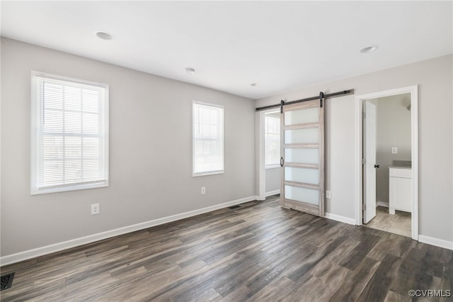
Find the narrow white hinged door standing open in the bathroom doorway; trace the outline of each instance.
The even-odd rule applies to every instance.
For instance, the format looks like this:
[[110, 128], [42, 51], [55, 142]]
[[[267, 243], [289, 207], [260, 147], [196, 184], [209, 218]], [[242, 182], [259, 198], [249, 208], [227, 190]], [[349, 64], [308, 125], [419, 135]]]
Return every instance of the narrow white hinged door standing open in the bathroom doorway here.
[[376, 216], [376, 101], [365, 101], [363, 118], [363, 223], [369, 223]]

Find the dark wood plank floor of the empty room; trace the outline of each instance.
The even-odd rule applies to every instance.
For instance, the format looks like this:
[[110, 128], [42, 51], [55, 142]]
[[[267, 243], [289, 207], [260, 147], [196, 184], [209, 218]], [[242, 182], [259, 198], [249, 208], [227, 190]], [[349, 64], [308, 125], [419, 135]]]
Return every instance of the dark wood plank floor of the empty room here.
[[7, 272], [16, 275], [1, 301], [410, 301], [410, 289], [453, 290], [453, 251], [282, 209], [274, 197]]

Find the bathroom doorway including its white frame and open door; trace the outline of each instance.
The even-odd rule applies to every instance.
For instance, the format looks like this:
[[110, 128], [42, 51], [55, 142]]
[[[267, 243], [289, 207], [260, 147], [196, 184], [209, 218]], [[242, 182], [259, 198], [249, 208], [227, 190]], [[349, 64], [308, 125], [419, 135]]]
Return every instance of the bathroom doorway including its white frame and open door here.
[[418, 240], [418, 86], [355, 97], [356, 224]]

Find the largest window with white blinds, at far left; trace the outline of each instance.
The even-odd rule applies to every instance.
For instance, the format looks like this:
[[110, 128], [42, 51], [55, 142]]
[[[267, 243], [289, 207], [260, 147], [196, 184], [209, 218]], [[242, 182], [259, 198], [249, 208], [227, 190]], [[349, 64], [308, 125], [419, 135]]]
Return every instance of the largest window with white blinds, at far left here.
[[31, 194], [108, 186], [108, 85], [32, 72]]

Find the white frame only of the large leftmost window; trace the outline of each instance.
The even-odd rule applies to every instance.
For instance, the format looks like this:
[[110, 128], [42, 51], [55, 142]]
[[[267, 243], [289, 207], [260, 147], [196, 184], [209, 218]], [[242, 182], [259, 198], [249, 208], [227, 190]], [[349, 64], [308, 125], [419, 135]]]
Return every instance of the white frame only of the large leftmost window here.
[[[37, 109], [38, 109], [38, 99], [35, 91], [35, 81], [37, 78], [50, 79], [52, 81], [68, 82], [70, 84], [76, 85], [87, 85], [98, 88], [103, 94], [103, 108], [104, 108], [104, 123], [103, 123], [103, 139], [105, 150], [103, 152], [103, 158], [105, 164], [105, 180], [102, 181], [93, 181], [86, 183], [76, 183], [76, 184], [66, 184], [62, 186], [49, 186], [46, 189], [39, 189], [38, 187], [38, 120], [37, 120]], [[79, 191], [84, 189], [96, 189], [109, 186], [109, 169], [110, 169], [110, 159], [109, 159], [109, 85], [86, 81], [83, 79], [75, 79], [72, 77], [65, 77], [58, 74], [50, 74], [47, 72], [40, 72], [36, 70], [31, 71], [30, 77], [30, 195], [40, 195], [40, 194], [51, 194], [64, 191]], [[39, 104], [42, 106], [42, 104]], [[102, 113], [100, 112], [99, 115]]]

